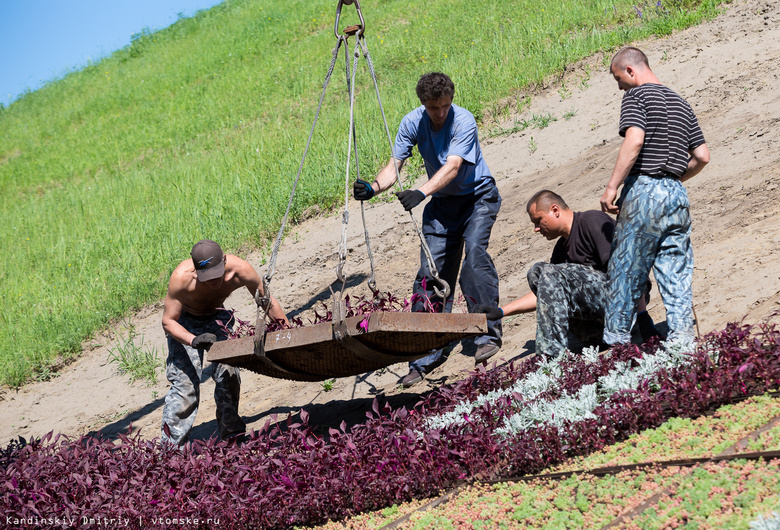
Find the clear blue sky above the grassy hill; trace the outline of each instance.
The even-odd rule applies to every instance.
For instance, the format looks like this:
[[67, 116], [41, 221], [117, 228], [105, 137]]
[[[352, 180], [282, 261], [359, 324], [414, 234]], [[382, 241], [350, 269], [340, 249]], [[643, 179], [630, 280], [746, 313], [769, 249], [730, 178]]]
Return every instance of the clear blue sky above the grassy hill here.
[[0, 103], [221, 0], [0, 0]]

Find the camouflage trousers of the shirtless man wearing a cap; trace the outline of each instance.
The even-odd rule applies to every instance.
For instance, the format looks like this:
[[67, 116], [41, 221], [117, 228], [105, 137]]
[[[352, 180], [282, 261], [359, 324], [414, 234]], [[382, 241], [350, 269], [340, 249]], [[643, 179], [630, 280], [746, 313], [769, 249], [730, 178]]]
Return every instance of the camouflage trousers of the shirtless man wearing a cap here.
[[[217, 340], [227, 340], [227, 334], [217, 323], [231, 322], [230, 313], [218, 311], [209, 317], [182, 314], [179, 324], [190, 333], [213, 333]], [[165, 396], [161, 439], [182, 445], [189, 437], [200, 403], [200, 383], [203, 375], [203, 352], [192, 346], [185, 346], [168, 337], [168, 360], [165, 375], [171, 389]], [[217, 431], [221, 438], [227, 438], [246, 431], [246, 424], [238, 415], [238, 400], [241, 392], [241, 376], [238, 368], [213, 363], [211, 378], [214, 380], [214, 401], [217, 404]], [[165, 425], [170, 428], [170, 437], [165, 434]]]

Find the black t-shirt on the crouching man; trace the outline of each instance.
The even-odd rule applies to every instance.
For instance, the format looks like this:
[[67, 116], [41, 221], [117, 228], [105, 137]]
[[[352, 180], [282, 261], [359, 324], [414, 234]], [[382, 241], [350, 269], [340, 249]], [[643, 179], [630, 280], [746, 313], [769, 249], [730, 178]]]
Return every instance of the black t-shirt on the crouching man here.
[[607, 272], [615, 220], [598, 210], [574, 212], [569, 238], [559, 238], [550, 263], [580, 263]]

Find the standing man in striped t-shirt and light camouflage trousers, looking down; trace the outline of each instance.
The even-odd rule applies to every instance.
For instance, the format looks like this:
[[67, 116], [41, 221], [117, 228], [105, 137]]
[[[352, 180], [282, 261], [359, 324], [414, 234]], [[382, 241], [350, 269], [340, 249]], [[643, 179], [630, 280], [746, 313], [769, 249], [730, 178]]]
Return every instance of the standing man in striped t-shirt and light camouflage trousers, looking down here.
[[620, 50], [610, 71], [626, 93], [619, 129], [624, 140], [601, 196], [602, 211], [618, 214], [604, 342], [631, 341], [637, 303], [651, 268], [666, 308], [668, 338], [692, 340], [691, 218], [682, 182], [702, 170], [710, 152], [690, 105], [661, 85], [641, 50]]

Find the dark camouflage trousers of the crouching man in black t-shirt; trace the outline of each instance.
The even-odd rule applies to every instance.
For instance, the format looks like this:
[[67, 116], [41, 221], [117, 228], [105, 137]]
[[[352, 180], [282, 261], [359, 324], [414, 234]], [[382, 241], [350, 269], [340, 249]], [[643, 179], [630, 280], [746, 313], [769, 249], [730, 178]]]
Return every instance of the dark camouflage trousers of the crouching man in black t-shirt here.
[[607, 275], [578, 263], [536, 263], [528, 271], [536, 295], [536, 352], [557, 357], [571, 333], [598, 344], [604, 328]]

